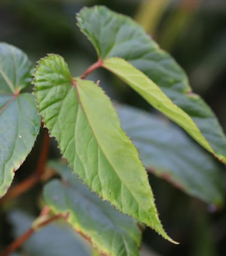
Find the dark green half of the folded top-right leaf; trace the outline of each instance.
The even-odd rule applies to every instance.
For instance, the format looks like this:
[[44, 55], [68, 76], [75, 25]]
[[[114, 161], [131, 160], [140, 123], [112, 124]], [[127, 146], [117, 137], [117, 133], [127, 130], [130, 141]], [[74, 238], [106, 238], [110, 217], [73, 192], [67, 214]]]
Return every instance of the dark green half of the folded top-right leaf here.
[[226, 138], [212, 110], [202, 98], [191, 92], [185, 72], [168, 53], [159, 49], [143, 28], [130, 18], [104, 6], [83, 8], [77, 20], [81, 31], [93, 43], [99, 59], [120, 57], [143, 72], [190, 116], [206, 141], [200, 135], [197, 136], [194, 124], [191, 127], [196, 132], [189, 131], [192, 128], [186, 131], [226, 163]]

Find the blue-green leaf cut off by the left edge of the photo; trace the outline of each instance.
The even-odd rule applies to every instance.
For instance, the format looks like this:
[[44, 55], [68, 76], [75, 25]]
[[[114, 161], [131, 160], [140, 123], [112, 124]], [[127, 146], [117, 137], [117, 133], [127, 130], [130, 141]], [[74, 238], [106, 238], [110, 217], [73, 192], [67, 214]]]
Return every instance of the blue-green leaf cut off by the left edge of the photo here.
[[0, 197], [34, 145], [40, 127], [35, 97], [20, 93], [30, 81], [27, 55], [0, 43]]

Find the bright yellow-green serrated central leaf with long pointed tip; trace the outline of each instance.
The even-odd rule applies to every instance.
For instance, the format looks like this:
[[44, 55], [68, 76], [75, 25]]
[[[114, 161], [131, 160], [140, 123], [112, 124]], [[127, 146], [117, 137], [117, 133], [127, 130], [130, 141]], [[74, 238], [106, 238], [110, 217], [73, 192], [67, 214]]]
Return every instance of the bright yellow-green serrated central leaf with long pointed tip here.
[[34, 72], [45, 126], [79, 177], [121, 212], [166, 239], [138, 151], [123, 132], [110, 99], [91, 81], [74, 81], [64, 59], [51, 54]]

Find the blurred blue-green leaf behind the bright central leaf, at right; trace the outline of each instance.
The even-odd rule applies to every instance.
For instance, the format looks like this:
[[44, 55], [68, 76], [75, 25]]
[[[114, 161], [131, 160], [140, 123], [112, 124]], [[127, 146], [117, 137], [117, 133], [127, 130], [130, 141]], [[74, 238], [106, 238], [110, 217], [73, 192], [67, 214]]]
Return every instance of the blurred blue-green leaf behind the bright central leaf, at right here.
[[124, 105], [117, 109], [123, 130], [148, 170], [191, 196], [223, 204], [223, 168], [216, 159], [169, 121]]

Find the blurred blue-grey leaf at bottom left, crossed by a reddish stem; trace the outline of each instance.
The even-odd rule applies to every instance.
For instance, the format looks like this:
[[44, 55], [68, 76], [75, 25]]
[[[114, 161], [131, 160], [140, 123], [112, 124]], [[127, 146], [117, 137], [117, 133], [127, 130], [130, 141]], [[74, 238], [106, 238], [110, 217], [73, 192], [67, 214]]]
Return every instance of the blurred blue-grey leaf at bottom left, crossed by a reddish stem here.
[[[31, 227], [35, 218], [15, 210], [9, 213], [9, 220], [13, 226], [13, 236], [18, 238]], [[37, 230], [22, 245], [23, 252], [32, 256], [91, 256], [90, 247], [85, 239], [62, 221]]]

